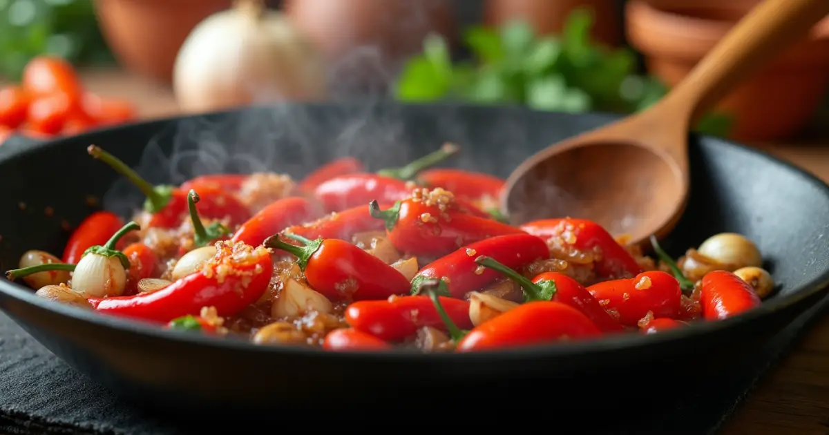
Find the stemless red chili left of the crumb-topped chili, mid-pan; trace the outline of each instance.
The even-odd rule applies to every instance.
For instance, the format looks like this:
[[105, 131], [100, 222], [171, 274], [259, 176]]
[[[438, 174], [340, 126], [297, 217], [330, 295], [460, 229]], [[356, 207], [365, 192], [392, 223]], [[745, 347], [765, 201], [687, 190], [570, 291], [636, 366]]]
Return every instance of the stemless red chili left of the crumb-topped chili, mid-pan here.
[[[388, 205], [387, 205], [388, 206]], [[351, 241], [354, 234], [380, 231], [385, 228], [382, 220], [371, 216], [369, 207], [356, 207], [332, 213], [308, 224], [293, 225], [284, 233], [301, 235], [306, 239], [341, 239]]]

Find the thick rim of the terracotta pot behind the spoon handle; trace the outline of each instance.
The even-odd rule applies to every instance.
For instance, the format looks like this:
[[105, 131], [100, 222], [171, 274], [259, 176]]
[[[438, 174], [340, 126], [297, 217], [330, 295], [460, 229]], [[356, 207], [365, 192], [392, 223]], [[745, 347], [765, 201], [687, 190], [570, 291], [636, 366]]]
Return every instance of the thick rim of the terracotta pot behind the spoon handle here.
[[[675, 5], [676, 0], [629, 1], [625, 21], [631, 44], [647, 55], [699, 60], [734, 25], [728, 20], [694, 17], [666, 10]], [[729, 0], [698, 0], [693, 5], [684, 2], [681, 7], [720, 7], [734, 11], [744, 8], [740, 2]], [[822, 53], [817, 54], [816, 51]], [[829, 65], [829, 17], [812, 27], [807, 41], [794, 46], [784, 59], [776, 63]]]

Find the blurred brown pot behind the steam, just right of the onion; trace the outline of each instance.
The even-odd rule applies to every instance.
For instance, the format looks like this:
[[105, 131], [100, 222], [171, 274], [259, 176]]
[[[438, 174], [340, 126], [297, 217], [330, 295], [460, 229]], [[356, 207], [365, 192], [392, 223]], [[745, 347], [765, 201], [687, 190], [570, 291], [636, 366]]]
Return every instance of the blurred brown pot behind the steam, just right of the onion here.
[[429, 33], [455, 40], [452, 0], [286, 0], [284, 10], [338, 80], [388, 84]]

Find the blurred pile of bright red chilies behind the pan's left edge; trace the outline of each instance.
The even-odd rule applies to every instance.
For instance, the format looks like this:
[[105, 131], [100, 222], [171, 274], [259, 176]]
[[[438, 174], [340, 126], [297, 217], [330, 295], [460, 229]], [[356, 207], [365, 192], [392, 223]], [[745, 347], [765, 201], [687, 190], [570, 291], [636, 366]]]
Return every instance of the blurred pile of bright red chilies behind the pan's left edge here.
[[0, 144], [15, 133], [70, 136], [133, 118], [133, 104], [85, 91], [72, 65], [56, 57], [32, 59], [20, 84], [0, 89]]

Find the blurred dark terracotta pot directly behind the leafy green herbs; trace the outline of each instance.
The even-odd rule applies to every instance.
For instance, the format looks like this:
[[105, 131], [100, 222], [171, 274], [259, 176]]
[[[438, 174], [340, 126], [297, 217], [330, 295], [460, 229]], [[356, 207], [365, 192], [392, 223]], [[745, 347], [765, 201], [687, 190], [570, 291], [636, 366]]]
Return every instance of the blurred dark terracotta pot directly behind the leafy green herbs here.
[[560, 33], [567, 16], [574, 8], [593, 11], [592, 36], [608, 46], [618, 46], [622, 30], [616, 0], [487, 0], [484, 21], [500, 26], [513, 19], [529, 22], [540, 34]]

